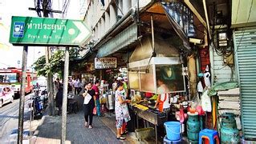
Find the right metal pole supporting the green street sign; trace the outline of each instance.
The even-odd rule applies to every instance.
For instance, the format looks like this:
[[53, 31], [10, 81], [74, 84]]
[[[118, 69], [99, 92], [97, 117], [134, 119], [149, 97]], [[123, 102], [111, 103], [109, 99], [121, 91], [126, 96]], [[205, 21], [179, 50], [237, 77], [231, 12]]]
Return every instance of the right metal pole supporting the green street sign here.
[[61, 143], [66, 141], [66, 128], [67, 128], [67, 81], [68, 81], [68, 67], [69, 67], [69, 46], [65, 50], [65, 65], [64, 65], [64, 78], [63, 78], [63, 110], [62, 110], [62, 131]]

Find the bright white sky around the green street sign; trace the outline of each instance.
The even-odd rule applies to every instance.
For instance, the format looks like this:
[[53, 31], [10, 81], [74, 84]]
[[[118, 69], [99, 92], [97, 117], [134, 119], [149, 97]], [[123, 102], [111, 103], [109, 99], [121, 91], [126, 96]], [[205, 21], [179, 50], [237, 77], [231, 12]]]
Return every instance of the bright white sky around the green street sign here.
[[[53, 10], [62, 10], [63, 0], [54, 0], [52, 2]], [[11, 16], [38, 17], [36, 12], [28, 10], [29, 7], [35, 7], [34, 0], [0, 0], [0, 68], [22, 67], [22, 46], [12, 46], [9, 43]], [[67, 9], [67, 17], [70, 19], [79, 19], [79, 0], [70, 0]], [[61, 14], [54, 14], [54, 18]], [[30, 66], [42, 55], [45, 54], [45, 47], [29, 46], [27, 54], [27, 66]], [[18, 64], [19, 62], [19, 64]]]

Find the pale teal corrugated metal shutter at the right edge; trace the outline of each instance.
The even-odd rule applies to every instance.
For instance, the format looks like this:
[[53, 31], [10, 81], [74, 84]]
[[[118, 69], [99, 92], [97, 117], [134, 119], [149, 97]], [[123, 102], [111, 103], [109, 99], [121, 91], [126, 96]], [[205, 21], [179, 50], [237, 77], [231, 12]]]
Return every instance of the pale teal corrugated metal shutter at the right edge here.
[[256, 138], [256, 28], [234, 31], [234, 53], [241, 89], [242, 130]]

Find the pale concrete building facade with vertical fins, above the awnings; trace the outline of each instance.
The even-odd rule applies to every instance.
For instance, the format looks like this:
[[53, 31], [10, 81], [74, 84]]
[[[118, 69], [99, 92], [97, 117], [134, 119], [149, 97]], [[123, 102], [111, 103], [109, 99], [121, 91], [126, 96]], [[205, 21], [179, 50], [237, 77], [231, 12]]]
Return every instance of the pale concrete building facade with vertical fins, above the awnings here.
[[[133, 7], [137, 7], [138, 0], [104, 0], [105, 6], [98, 0], [85, 2], [87, 6], [84, 22], [93, 31], [91, 39], [98, 40], [112, 28], [118, 19], [128, 13]], [[147, 6], [152, 0], [139, 0], [140, 8]], [[84, 10], [84, 9], [83, 9]]]

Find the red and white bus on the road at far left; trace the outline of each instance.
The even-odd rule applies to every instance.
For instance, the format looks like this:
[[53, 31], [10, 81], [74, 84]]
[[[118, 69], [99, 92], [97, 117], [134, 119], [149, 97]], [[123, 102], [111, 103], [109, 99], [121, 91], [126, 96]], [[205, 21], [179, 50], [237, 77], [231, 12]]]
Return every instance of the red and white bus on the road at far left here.
[[[32, 80], [33, 77], [33, 80]], [[33, 91], [33, 81], [36, 80], [36, 74], [26, 70], [25, 80], [25, 93], [31, 93]], [[15, 67], [8, 67], [7, 69], [0, 69], [0, 85], [10, 85], [14, 90], [14, 97], [20, 97], [22, 83], [22, 69]]]

